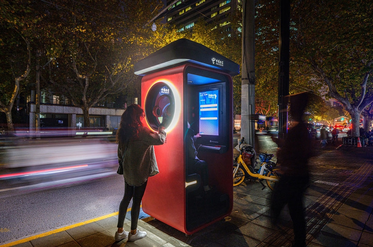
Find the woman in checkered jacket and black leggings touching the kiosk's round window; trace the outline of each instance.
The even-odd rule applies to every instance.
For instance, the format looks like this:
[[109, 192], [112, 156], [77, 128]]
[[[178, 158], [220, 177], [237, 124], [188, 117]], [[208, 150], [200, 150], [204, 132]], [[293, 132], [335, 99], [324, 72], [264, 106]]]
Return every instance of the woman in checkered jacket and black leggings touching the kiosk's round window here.
[[[164, 144], [166, 132], [162, 125], [159, 126], [158, 132], [142, 126], [141, 119], [144, 117], [144, 110], [139, 105], [128, 106], [122, 114], [116, 135], [119, 164], [123, 157], [122, 166], [125, 189], [123, 199], [119, 205], [118, 230], [115, 232], [115, 241], [120, 241], [127, 237], [128, 241], [135, 241], [146, 237], [145, 231], [137, 230], [140, 205], [148, 177], [159, 173], [153, 145]], [[126, 232], [123, 230], [123, 224], [132, 198], [131, 231]]]

